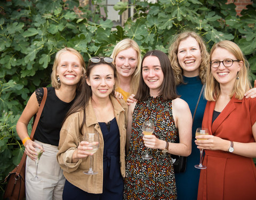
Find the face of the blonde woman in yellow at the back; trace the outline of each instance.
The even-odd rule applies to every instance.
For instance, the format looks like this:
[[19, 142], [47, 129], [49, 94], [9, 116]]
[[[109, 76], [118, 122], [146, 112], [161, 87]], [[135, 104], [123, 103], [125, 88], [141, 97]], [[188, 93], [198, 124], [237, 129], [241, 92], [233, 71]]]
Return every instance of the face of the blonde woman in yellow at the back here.
[[132, 48], [120, 51], [115, 58], [115, 65], [119, 77], [131, 77], [137, 67], [137, 52]]

